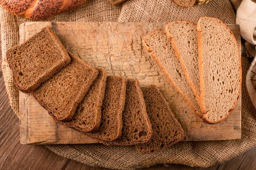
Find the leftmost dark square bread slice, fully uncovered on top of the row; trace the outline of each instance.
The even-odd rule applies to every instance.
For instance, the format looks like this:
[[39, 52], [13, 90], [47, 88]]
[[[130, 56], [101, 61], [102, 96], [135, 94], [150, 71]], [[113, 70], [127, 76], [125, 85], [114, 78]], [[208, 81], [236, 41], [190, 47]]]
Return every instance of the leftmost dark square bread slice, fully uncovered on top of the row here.
[[23, 93], [34, 91], [70, 63], [70, 57], [49, 27], [44, 27], [20, 45], [6, 53], [13, 82]]

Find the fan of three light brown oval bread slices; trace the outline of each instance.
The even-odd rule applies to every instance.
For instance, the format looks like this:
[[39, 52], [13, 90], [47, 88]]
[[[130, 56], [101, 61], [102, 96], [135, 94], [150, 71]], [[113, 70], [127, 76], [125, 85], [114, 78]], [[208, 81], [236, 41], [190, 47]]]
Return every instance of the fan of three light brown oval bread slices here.
[[217, 18], [166, 24], [143, 37], [143, 45], [195, 113], [209, 124], [225, 120], [240, 97], [238, 44]]

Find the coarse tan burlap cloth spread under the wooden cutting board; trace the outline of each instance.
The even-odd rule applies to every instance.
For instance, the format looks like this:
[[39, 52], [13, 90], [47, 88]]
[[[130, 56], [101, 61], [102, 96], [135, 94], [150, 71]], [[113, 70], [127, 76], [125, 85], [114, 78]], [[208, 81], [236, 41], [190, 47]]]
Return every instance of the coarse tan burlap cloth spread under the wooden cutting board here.
[[[112, 6], [109, 0], [88, 0], [83, 6], [69, 13], [56, 15], [50, 21], [121, 21], [121, 22], [170, 22], [190, 20], [197, 22], [200, 16], [213, 16], [226, 23], [235, 23], [235, 13], [229, 0], [214, 0], [208, 4], [188, 9], [177, 7], [171, 0], [129, 0]], [[18, 91], [13, 86], [11, 71], [5, 53], [18, 44], [18, 27], [28, 21], [7, 13], [0, 8], [2, 39], [2, 71], [11, 106], [19, 115]], [[156, 164], [185, 164], [208, 167], [221, 163], [256, 145], [256, 110], [252, 106], [245, 87], [245, 74], [249, 67], [242, 57], [242, 138], [227, 141], [179, 142], [170, 148], [150, 155], [139, 155], [133, 146], [103, 146], [101, 144], [48, 145], [53, 152], [64, 157], [115, 169], [135, 169]]]

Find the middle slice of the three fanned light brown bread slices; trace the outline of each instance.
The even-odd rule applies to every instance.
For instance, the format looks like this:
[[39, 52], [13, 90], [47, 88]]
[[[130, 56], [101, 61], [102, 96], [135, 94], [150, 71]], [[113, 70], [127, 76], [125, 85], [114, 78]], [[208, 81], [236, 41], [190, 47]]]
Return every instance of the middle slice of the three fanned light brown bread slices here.
[[165, 32], [171, 40], [186, 79], [199, 101], [198, 32], [196, 24], [189, 21], [170, 22], [166, 24]]

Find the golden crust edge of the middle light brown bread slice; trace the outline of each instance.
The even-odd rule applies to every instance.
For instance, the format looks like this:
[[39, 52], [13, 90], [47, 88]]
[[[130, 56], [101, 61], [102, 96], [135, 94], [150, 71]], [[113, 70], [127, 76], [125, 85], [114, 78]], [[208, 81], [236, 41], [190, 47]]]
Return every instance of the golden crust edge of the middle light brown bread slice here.
[[175, 41], [173, 40], [173, 35], [171, 35], [171, 33], [168, 31], [168, 26], [170, 26], [171, 24], [178, 23], [178, 22], [189, 22], [190, 24], [192, 24], [192, 25], [194, 25], [194, 26], [196, 26], [196, 24], [193, 23], [193, 22], [190, 22], [190, 21], [178, 20], [178, 21], [174, 21], [174, 22], [167, 23], [166, 26], [164, 27], [164, 31], [165, 31], [167, 37], [171, 40], [171, 44], [172, 44], [172, 46], [173, 46], [173, 49], [174, 49], [174, 51], [175, 51], [175, 54], [177, 55], [177, 58], [178, 58], [179, 61], [180, 61], [181, 68], [182, 68], [182, 70], [184, 71], [184, 74], [185, 74], [185, 76], [186, 76], [186, 79], [187, 79], [189, 85], [191, 86], [192, 91], [194, 92], [197, 101], [199, 102], [199, 100], [200, 100], [200, 95], [198, 94], [197, 90], [195, 89], [195, 86], [194, 86], [194, 84], [192, 83], [192, 81], [191, 81], [191, 79], [190, 79], [190, 77], [189, 77], [189, 74], [188, 74], [188, 72], [187, 72], [187, 70], [186, 70], [186, 67], [184, 66], [184, 63], [183, 63], [183, 61], [182, 61], [182, 57], [180, 56], [180, 52], [179, 52], [179, 50], [177, 49], [177, 46], [176, 46]]

